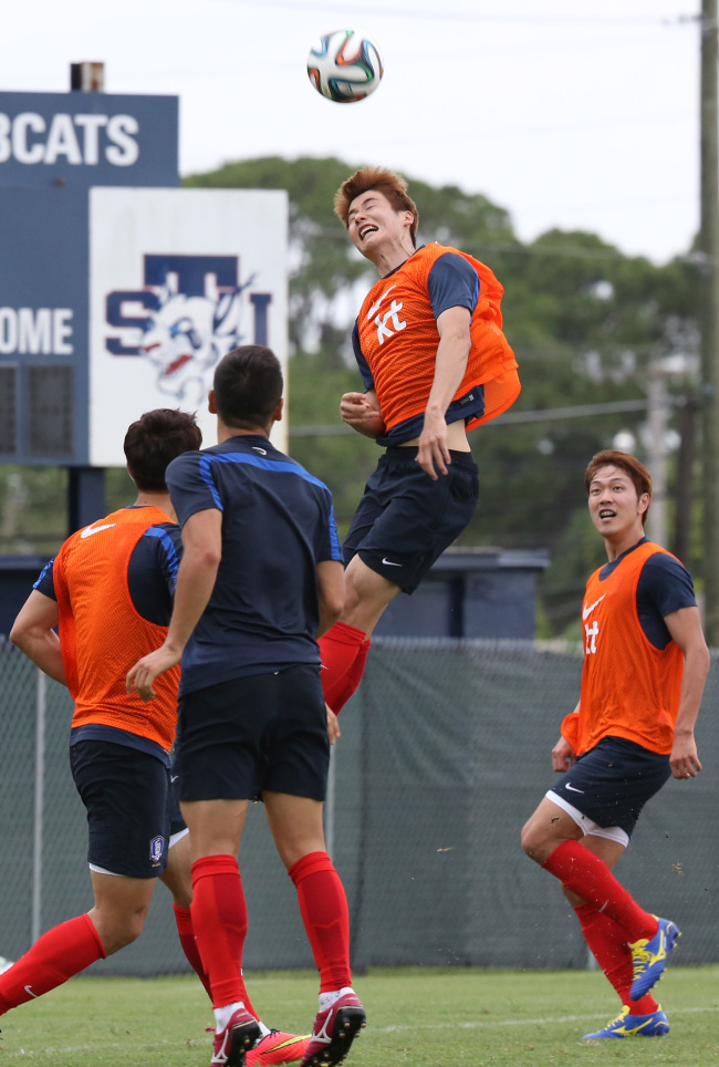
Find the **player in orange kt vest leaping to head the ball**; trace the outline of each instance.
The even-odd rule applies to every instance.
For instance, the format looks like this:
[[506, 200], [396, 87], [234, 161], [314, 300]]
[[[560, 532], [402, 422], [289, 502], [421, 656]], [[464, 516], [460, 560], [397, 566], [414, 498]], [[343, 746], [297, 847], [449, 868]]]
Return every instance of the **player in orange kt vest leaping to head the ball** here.
[[386, 448], [344, 542], [344, 610], [320, 641], [325, 700], [338, 712], [387, 604], [414, 592], [475, 514], [467, 432], [506, 411], [520, 383], [501, 329], [501, 284], [456, 248], [416, 247], [418, 213], [403, 178], [357, 170], [335, 213], [381, 276], [353, 331], [365, 391], [345, 393], [340, 411]]

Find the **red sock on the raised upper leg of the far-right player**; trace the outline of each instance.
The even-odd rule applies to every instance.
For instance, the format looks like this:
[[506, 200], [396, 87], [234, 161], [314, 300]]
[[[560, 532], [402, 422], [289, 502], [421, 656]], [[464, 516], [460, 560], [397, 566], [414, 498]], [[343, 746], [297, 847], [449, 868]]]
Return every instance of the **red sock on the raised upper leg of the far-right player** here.
[[625, 941], [654, 937], [658, 929], [654, 915], [639, 908], [606, 863], [580, 841], [563, 841], [542, 867], [585, 903], [614, 919]]

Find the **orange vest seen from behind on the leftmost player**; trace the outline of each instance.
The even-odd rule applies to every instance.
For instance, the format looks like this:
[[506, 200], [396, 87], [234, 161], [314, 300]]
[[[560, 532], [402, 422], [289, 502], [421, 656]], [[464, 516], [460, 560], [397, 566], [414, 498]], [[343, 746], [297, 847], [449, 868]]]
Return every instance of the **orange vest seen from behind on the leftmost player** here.
[[115, 726], [166, 752], [175, 739], [179, 665], [157, 678], [157, 697], [148, 704], [127, 695], [125, 675], [167, 634], [167, 628], [135, 610], [127, 567], [143, 534], [169, 521], [159, 508], [123, 508], [73, 534], [53, 562], [60, 648], [75, 702], [73, 727]]

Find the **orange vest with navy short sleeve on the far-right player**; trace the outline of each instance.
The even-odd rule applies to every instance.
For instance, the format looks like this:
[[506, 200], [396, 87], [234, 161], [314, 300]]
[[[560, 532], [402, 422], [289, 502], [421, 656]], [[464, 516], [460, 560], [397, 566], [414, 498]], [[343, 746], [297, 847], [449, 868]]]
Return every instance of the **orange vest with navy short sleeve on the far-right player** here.
[[671, 752], [684, 655], [664, 619], [696, 603], [688, 571], [646, 538], [591, 576], [580, 711], [567, 716], [577, 754], [606, 736]]

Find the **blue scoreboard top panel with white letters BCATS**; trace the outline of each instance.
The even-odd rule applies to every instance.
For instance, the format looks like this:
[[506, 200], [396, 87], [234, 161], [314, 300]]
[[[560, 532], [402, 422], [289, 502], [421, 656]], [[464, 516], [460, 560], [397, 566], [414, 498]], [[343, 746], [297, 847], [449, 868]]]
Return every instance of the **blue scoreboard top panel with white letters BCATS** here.
[[177, 186], [178, 97], [0, 93], [0, 186]]

